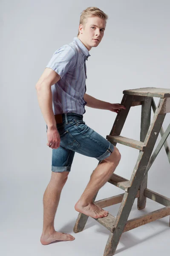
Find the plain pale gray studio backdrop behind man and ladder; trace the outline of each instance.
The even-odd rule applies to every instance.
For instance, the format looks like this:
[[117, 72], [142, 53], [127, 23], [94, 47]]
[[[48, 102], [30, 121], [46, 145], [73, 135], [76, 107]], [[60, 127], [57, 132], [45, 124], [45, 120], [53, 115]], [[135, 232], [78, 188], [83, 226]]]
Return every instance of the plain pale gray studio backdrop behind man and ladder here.
[[[90, 218], [89, 228], [75, 234], [73, 242], [44, 247], [39, 241], [43, 193], [51, 177], [52, 149], [46, 145], [46, 123], [37, 102], [35, 84], [53, 52], [77, 35], [81, 12], [89, 6], [103, 10], [109, 15], [109, 20], [101, 43], [90, 50], [91, 56], [86, 63], [86, 93], [107, 102], [120, 103], [126, 89], [170, 88], [170, 1], [1, 0], [0, 247], [3, 255], [14, 252], [29, 255], [32, 251], [34, 255], [54, 255], [58, 250], [65, 252], [60, 255], [67, 255], [70, 251], [72, 255], [103, 255], [109, 232]], [[157, 104], [158, 99], [155, 100]], [[122, 136], [140, 139], [140, 115], [141, 106], [131, 108]], [[84, 114], [86, 124], [103, 137], [109, 134], [115, 117], [116, 113], [111, 111], [89, 107]], [[169, 122], [170, 114], [167, 114], [164, 130]], [[159, 135], [158, 140], [160, 138]], [[129, 179], [138, 151], [119, 144], [117, 147], [121, 152], [121, 162], [115, 173]], [[74, 236], [73, 227], [78, 215], [74, 205], [97, 164], [94, 158], [75, 154], [69, 179], [61, 194], [56, 230]], [[148, 174], [148, 188], [170, 197], [169, 179], [170, 165], [162, 148]], [[97, 200], [120, 193], [121, 189], [107, 183], [99, 191]], [[116, 215], [118, 207], [107, 209]], [[147, 200], [144, 213], [158, 208], [161, 205]], [[136, 201], [133, 210], [134, 216], [141, 215]], [[163, 228], [168, 227], [168, 218], [159, 222], [160, 227], [162, 223]], [[156, 224], [150, 225], [153, 226], [147, 227], [157, 227]], [[138, 228], [143, 231], [143, 240], [146, 239], [147, 227]], [[150, 229], [150, 239], [152, 231]], [[118, 245], [120, 255], [127, 255], [128, 241], [133, 240], [132, 232], [138, 231], [129, 231], [131, 236], [122, 236]], [[139, 233], [135, 234], [137, 238]], [[121, 249], [124, 238], [127, 240]], [[93, 244], [91, 239], [94, 239]], [[156, 240], [153, 238], [153, 241]], [[135, 244], [139, 249], [140, 241], [135, 241]], [[133, 246], [131, 241], [131, 252], [135, 253]], [[138, 255], [144, 250], [138, 250]]]

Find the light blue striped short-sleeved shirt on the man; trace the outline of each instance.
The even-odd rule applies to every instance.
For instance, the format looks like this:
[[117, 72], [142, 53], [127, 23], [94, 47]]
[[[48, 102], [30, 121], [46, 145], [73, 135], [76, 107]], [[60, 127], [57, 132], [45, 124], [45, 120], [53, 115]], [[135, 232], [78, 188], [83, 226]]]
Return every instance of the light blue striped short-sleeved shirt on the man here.
[[52, 85], [54, 114], [77, 113], [83, 115], [86, 92], [86, 60], [89, 51], [78, 37], [57, 49], [46, 67], [57, 72], [61, 79]]

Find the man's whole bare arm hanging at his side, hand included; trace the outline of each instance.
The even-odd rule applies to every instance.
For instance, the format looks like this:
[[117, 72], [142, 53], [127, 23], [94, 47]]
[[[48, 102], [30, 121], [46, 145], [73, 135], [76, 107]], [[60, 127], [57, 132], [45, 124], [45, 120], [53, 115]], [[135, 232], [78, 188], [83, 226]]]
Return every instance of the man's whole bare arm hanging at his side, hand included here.
[[51, 148], [58, 148], [60, 145], [60, 135], [57, 131], [55, 116], [52, 110], [51, 91], [51, 86], [57, 83], [60, 79], [61, 77], [58, 75], [58, 73], [50, 68], [46, 68], [35, 86], [40, 110], [48, 127], [47, 145]]

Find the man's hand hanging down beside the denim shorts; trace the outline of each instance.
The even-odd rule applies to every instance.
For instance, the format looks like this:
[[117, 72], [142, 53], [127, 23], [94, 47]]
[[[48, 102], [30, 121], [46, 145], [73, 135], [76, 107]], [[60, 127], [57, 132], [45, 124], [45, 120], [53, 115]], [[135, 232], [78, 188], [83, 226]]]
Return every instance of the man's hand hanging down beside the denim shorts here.
[[47, 129], [47, 140], [48, 143], [46, 144], [49, 146], [49, 148], [59, 148], [60, 146], [60, 134], [58, 133], [58, 130], [56, 127]]

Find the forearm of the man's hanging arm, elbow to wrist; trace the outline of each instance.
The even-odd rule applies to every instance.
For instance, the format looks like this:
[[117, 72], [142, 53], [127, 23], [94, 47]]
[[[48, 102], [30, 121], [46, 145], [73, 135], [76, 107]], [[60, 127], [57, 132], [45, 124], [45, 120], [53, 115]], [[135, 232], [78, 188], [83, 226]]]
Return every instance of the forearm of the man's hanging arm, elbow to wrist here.
[[40, 110], [48, 128], [56, 127], [55, 116], [52, 110], [52, 90], [46, 84], [36, 85], [37, 98]]

